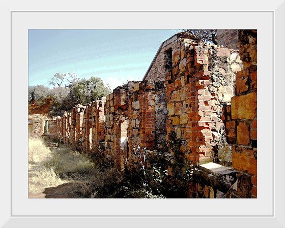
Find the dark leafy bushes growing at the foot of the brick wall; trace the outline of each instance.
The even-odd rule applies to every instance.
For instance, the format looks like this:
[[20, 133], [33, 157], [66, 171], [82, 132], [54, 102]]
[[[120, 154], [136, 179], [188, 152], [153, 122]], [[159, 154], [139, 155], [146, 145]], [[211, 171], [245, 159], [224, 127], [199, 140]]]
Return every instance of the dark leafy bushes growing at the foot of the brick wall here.
[[124, 194], [134, 198], [186, 198], [194, 165], [187, 158], [190, 152], [181, 151], [181, 145], [176, 133], [170, 132], [158, 151], [136, 146], [125, 167]]

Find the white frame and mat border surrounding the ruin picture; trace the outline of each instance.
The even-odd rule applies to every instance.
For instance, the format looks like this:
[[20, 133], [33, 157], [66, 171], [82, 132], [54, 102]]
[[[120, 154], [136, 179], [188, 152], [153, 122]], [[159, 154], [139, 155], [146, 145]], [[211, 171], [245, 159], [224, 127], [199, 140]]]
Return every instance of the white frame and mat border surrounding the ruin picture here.
[[[57, 2], [48, 10], [43, 5], [35, 8], [25, 3], [22, 7], [13, 2], [2, 8], [2, 97], [5, 107], [11, 104], [11, 110], [2, 111], [5, 184], [1, 189], [1, 227], [285, 227], [285, 157], [281, 145], [285, 2], [243, 1], [230, 6], [222, 1], [196, 5], [185, 1], [177, 6], [165, 1], [163, 5], [148, 3], [144, 10], [115, 1], [93, 3], [92, 7], [73, 3], [67, 7]], [[257, 29], [257, 199], [29, 199], [29, 29], [187, 28]]]

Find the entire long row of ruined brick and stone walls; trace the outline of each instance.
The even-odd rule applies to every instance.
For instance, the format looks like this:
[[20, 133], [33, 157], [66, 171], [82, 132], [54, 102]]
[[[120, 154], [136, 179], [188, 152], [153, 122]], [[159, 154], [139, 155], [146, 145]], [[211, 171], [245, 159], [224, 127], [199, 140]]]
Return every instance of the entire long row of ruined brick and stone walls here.
[[158, 149], [175, 131], [196, 166], [190, 198], [257, 198], [257, 31], [219, 30], [218, 41], [169, 38], [143, 81], [50, 119], [45, 133], [87, 153], [103, 146], [123, 168], [136, 145]]

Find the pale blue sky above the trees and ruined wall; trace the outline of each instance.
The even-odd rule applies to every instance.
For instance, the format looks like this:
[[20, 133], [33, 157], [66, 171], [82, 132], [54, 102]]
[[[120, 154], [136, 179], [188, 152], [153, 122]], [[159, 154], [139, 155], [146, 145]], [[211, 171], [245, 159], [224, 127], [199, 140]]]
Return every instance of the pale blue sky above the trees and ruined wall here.
[[29, 85], [59, 73], [101, 78], [112, 89], [141, 81], [160, 44], [179, 30], [29, 30]]

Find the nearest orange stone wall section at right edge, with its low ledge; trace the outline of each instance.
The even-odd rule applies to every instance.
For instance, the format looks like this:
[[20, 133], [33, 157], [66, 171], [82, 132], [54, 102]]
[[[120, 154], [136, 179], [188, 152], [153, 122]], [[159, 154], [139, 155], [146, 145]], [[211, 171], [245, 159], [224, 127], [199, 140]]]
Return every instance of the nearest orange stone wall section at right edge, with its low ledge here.
[[[235, 96], [223, 108], [232, 168], [196, 169], [197, 198], [257, 198], [257, 30], [239, 30], [243, 70], [236, 74]], [[218, 158], [226, 154], [219, 151]], [[205, 167], [209, 164], [205, 164]], [[211, 175], [209, 175], [211, 174]]]

